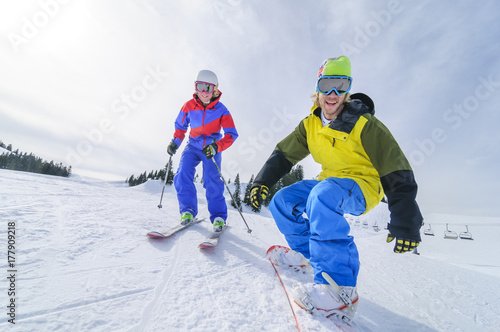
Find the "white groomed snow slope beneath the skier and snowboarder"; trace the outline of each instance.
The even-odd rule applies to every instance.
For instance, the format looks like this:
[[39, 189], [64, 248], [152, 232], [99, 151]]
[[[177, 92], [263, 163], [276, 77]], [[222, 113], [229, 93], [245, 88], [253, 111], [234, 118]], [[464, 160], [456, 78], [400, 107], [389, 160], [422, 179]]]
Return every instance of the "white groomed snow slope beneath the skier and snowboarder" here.
[[[166, 187], [158, 209], [161, 189], [159, 181], [127, 187], [77, 175], [0, 170], [3, 276], [11, 269], [8, 225], [16, 225], [16, 324], [8, 322], [12, 284], [3, 277], [0, 330], [296, 330], [265, 258], [271, 245], [286, 245], [269, 211], [244, 209], [249, 234], [228, 198], [230, 228], [218, 247], [201, 251], [208, 222], [165, 240], [146, 237], [179, 218], [173, 187]], [[198, 196], [200, 216], [206, 217], [201, 186]], [[400, 255], [385, 241], [385, 204], [347, 217], [361, 259], [359, 330], [500, 330], [500, 219], [426, 215], [436, 236], [422, 235], [420, 255]], [[467, 224], [474, 240], [443, 239], [446, 223], [457, 232]], [[327, 320], [296, 312], [302, 331], [336, 330]]]

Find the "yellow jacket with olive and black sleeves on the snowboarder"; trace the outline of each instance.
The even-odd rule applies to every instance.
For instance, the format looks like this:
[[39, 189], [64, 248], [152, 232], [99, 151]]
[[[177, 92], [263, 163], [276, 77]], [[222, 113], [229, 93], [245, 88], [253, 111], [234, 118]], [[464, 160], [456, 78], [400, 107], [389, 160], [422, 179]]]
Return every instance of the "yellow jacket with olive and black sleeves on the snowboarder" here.
[[374, 116], [373, 101], [364, 94], [353, 94], [342, 113], [325, 127], [321, 112], [313, 107], [311, 114], [278, 143], [254, 185], [273, 186], [311, 154], [322, 166], [318, 181], [329, 177], [356, 181], [365, 197], [366, 212], [387, 196], [391, 234], [420, 240], [423, 219], [415, 201], [417, 184], [412, 168], [390, 131]]

